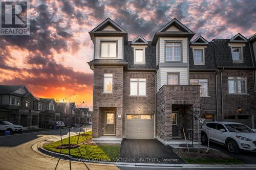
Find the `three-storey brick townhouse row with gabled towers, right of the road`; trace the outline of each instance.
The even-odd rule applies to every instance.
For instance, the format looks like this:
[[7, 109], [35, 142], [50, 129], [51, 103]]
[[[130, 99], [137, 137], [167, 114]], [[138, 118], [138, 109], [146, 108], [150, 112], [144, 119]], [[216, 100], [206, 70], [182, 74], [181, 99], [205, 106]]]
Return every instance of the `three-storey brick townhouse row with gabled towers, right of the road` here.
[[197, 114], [253, 128], [255, 36], [190, 41], [196, 33], [175, 18], [152, 41], [141, 36], [128, 41], [110, 18], [89, 34], [95, 140], [108, 135], [172, 143], [184, 137], [183, 128], [200, 128]]

